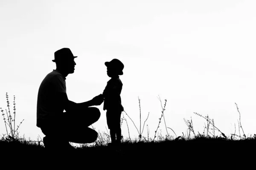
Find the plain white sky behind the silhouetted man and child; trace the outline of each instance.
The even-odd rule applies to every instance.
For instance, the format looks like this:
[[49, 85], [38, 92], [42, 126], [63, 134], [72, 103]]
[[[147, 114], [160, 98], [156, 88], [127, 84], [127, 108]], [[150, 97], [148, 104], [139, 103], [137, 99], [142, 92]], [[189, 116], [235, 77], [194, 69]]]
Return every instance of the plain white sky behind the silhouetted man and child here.
[[[11, 103], [15, 95], [16, 120], [25, 119], [20, 135], [43, 137], [36, 127], [38, 88], [55, 69], [54, 52], [67, 47], [78, 56], [66, 80], [74, 102], [103, 92], [109, 80], [104, 62], [117, 58], [125, 65], [125, 111], [139, 127], [140, 96], [143, 122], [150, 112], [151, 137], [161, 115], [158, 95], [163, 103], [167, 99], [166, 124], [178, 136], [186, 132], [183, 118], [191, 116], [195, 131], [203, 132], [205, 121], [193, 112], [208, 114], [226, 135], [234, 133], [235, 102], [245, 133], [254, 134], [255, 6], [254, 0], [1, 0], [0, 107], [7, 108], [6, 92]], [[102, 116], [94, 126], [106, 131], [103, 104], [98, 108]], [[160, 129], [165, 135], [163, 121]], [[128, 137], [125, 124], [122, 134]]]

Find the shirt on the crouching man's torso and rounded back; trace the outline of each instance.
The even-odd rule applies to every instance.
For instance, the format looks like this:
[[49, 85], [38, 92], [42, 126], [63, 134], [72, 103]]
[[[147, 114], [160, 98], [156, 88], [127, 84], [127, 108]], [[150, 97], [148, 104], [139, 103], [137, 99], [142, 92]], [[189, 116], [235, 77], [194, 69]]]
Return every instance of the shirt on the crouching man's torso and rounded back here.
[[63, 113], [64, 108], [57, 99], [57, 93], [66, 93], [65, 77], [57, 70], [47, 74], [38, 90], [37, 126], [47, 124], [53, 116]]

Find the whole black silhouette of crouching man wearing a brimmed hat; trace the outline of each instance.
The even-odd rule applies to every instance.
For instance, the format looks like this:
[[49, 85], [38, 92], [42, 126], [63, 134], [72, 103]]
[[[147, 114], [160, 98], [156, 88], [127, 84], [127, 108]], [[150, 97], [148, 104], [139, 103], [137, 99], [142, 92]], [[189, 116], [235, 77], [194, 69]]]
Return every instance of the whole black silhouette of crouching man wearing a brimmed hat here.
[[[47, 74], [38, 90], [37, 126], [46, 135], [44, 146], [50, 149], [74, 149], [69, 142], [92, 143], [98, 133], [88, 126], [100, 117], [98, 108], [101, 105], [102, 94], [93, 99], [75, 103], [67, 98], [65, 79], [73, 74], [76, 62], [69, 48], [55, 52], [56, 70]], [[64, 112], [64, 110], [66, 112]]]

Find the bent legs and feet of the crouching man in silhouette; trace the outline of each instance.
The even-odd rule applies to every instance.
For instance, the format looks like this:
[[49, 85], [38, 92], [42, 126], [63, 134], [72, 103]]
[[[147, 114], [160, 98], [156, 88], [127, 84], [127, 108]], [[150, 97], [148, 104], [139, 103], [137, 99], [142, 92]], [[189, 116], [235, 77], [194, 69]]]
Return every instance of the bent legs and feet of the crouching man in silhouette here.
[[44, 146], [72, 149], [69, 142], [80, 144], [95, 142], [98, 133], [88, 126], [96, 122], [99, 117], [99, 109], [94, 107], [86, 108], [84, 111], [67, 111], [61, 116], [52, 116], [47, 124], [41, 126], [42, 132], [46, 135]]

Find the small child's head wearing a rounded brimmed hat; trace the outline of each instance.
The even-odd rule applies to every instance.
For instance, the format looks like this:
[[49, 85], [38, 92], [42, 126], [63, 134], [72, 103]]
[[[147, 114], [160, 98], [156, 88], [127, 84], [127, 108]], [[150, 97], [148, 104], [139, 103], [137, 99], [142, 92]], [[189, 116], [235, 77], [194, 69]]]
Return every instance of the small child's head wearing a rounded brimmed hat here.
[[107, 66], [108, 77], [123, 75], [124, 65], [119, 59], [112, 59], [110, 62], [105, 62], [105, 65]]

